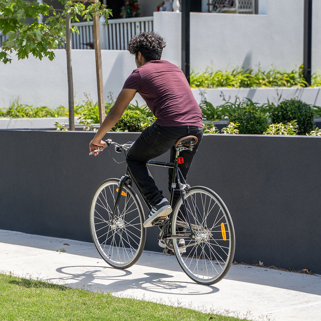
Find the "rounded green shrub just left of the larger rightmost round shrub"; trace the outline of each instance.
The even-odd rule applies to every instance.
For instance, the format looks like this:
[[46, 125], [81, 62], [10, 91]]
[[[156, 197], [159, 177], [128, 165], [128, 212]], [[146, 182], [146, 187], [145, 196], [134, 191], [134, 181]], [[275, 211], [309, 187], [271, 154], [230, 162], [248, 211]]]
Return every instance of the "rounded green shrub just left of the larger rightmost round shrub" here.
[[247, 106], [235, 112], [230, 119], [234, 124], [239, 123], [239, 134], [263, 134], [268, 126], [265, 113], [253, 106]]

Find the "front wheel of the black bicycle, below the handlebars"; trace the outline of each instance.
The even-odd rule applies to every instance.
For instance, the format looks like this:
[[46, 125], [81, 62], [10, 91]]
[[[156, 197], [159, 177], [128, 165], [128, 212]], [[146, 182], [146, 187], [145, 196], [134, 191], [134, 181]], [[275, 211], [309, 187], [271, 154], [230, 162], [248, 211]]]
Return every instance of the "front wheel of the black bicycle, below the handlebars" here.
[[111, 266], [126, 269], [143, 252], [146, 229], [142, 204], [136, 193], [124, 184], [112, 220], [119, 179], [110, 178], [97, 188], [90, 208], [90, 230], [100, 256]]

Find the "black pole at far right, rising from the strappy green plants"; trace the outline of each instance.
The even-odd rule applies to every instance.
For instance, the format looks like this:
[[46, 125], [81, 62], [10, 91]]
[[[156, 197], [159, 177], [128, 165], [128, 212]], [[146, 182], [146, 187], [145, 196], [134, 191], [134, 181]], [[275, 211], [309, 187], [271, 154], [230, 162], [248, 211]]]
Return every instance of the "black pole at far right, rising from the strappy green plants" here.
[[304, 43], [303, 43], [303, 75], [311, 85], [312, 56], [312, 0], [304, 0]]

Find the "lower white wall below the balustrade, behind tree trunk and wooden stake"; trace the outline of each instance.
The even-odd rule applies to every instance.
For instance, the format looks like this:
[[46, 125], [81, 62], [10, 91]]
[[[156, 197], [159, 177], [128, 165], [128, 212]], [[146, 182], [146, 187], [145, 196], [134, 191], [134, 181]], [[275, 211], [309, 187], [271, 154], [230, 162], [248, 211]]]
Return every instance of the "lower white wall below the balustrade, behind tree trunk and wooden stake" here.
[[[0, 108], [8, 108], [19, 96], [19, 102], [33, 106], [68, 106], [66, 52], [55, 51], [56, 58], [41, 61], [30, 56], [11, 64], [0, 64]], [[102, 50], [104, 96], [121, 90], [126, 77], [136, 68], [134, 56], [126, 50]], [[98, 101], [94, 50], [73, 50], [73, 79], [75, 101], [85, 99], [84, 92]]]

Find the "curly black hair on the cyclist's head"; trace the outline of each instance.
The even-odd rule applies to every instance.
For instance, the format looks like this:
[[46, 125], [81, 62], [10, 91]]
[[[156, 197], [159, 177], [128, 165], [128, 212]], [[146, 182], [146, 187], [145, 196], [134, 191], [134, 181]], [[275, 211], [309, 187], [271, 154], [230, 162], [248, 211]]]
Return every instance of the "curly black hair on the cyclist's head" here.
[[158, 33], [141, 31], [129, 41], [127, 50], [136, 57], [141, 52], [146, 61], [151, 61], [160, 60], [165, 46], [165, 41]]

